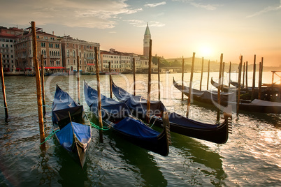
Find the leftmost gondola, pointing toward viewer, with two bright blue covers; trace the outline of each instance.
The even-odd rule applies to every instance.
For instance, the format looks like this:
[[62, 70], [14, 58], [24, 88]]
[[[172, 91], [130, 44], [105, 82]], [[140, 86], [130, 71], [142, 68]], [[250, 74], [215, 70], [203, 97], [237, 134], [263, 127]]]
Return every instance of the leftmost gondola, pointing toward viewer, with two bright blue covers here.
[[52, 126], [55, 137], [83, 168], [92, 140], [92, 130], [82, 105], [57, 85], [52, 103]]

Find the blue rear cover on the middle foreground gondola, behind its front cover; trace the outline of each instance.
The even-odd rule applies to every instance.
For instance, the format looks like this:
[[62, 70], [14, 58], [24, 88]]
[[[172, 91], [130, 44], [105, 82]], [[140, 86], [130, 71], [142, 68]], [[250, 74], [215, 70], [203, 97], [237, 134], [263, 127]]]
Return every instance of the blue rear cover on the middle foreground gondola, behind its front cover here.
[[[84, 92], [85, 92], [85, 100], [87, 105], [91, 108], [92, 112], [97, 114], [98, 108], [98, 92], [95, 89], [92, 89], [85, 82], [84, 84]], [[123, 118], [127, 117], [131, 114], [129, 108], [126, 104], [122, 102], [118, 102], [113, 100], [112, 98], [108, 98], [101, 94], [101, 115], [105, 117], [106, 114], [110, 115], [110, 117], [114, 118]]]

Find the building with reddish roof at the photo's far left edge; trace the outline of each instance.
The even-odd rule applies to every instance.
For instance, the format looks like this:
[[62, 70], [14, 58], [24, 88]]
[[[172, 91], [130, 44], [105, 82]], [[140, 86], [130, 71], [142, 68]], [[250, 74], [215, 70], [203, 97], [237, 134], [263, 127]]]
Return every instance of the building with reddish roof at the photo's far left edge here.
[[0, 27], [0, 52], [4, 72], [14, 72], [16, 70], [14, 43], [22, 33], [23, 29]]

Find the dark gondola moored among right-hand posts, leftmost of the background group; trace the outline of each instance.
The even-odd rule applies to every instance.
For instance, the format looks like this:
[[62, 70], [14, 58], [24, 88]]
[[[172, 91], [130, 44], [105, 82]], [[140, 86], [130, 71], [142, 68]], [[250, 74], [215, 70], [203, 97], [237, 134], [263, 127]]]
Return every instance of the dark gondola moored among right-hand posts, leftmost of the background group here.
[[[173, 79], [173, 85], [182, 93], [185, 94], [185, 96], [189, 96], [189, 87], [184, 86], [182, 90], [182, 85], [175, 82], [175, 79]], [[216, 104], [217, 103], [217, 91], [212, 90], [205, 90], [200, 91], [198, 89], [192, 89], [192, 98], [194, 100], [197, 100], [202, 103], [209, 103], [209, 104]], [[220, 93], [220, 105], [227, 107], [229, 102], [234, 102], [236, 100], [236, 95], [231, 93], [222, 92]]]

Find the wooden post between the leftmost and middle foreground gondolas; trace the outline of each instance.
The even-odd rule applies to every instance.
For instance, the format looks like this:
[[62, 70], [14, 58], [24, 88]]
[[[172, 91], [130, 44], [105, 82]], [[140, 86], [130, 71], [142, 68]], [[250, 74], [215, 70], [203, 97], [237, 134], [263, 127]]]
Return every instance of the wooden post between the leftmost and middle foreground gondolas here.
[[98, 91], [98, 117], [99, 117], [99, 141], [103, 142], [103, 119], [101, 117], [101, 83], [99, 80], [99, 59], [98, 59], [98, 47], [94, 47], [94, 61], [96, 65], [96, 85]]

